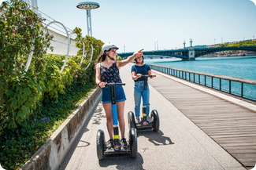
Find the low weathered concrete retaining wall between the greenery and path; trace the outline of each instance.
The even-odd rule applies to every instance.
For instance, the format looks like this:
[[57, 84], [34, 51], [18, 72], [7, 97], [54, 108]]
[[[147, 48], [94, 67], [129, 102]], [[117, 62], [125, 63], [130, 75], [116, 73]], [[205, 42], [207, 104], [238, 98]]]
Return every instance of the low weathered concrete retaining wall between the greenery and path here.
[[87, 118], [91, 118], [100, 101], [101, 89], [96, 88], [91, 95], [67, 118], [46, 143], [39, 148], [33, 157], [20, 169], [51, 170], [58, 169], [61, 161], [69, 152], [74, 139], [79, 134]]

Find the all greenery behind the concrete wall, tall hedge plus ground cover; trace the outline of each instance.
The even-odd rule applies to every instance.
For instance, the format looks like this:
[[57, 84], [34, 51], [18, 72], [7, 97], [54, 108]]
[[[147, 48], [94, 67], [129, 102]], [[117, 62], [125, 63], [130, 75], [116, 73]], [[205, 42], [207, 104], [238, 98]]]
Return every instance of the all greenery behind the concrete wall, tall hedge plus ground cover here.
[[[0, 164], [17, 169], [95, 89], [93, 63], [102, 41], [82, 38], [81, 29], [76, 28], [76, 45], [81, 48], [84, 42], [87, 52], [94, 47], [91, 65], [85, 70], [89, 61], [80, 65], [81, 58], [71, 56], [61, 72], [65, 56], [46, 55], [51, 37], [41, 31], [43, 20], [23, 1], [2, 2], [0, 10], [4, 11], [0, 16]], [[25, 65], [30, 55], [28, 68]], [[50, 121], [40, 121], [45, 117]]]

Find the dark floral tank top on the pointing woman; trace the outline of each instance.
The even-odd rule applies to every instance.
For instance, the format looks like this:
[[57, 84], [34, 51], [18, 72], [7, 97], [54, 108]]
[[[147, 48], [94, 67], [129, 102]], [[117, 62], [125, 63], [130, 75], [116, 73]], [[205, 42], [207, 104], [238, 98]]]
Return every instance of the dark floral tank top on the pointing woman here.
[[106, 68], [102, 66], [101, 63], [101, 81], [103, 82], [119, 82], [121, 83], [121, 78], [119, 75], [119, 69], [117, 67], [117, 62], [113, 63], [112, 66]]

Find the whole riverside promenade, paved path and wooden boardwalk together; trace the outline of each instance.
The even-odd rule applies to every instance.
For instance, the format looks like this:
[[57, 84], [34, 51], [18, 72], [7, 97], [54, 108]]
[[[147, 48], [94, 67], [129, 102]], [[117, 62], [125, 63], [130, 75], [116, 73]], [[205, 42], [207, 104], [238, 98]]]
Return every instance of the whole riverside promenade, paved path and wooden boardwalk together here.
[[[127, 113], [134, 111], [134, 82], [130, 70], [129, 65], [120, 70], [122, 81], [126, 83], [124, 118], [127, 138]], [[157, 77], [149, 80], [150, 110], [158, 110], [160, 128], [158, 132], [137, 131], [137, 157], [106, 157], [98, 161], [98, 129], [105, 132], [106, 140], [109, 139], [106, 116], [102, 104], [99, 103], [59, 169], [242, 170], [254, 167], [255, 105], [220, 93], [220, 96], [232, 101], [229, 102], [213, 96], [216, 94], [202, 92], [202, 87], [198, 85], [196, 86], [199, 89], [195, 89], [185, 81], [187, 85], [178, 79], [153, 72]], [[236, 102], [242, 107], [234, 104]], [[244, 107], [250, 107], [250, 110]]]

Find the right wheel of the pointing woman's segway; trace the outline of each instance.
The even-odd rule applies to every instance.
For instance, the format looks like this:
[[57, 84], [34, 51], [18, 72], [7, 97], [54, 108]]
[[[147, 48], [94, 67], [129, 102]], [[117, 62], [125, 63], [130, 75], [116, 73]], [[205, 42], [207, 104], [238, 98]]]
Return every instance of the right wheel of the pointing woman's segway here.
[[129, 131], [129, 146], [131, 151], [131, 157], [137, 157], [138, 144], [137, 144], [137, 132], [135, 128], [130, 128]]

